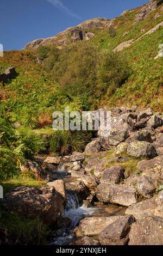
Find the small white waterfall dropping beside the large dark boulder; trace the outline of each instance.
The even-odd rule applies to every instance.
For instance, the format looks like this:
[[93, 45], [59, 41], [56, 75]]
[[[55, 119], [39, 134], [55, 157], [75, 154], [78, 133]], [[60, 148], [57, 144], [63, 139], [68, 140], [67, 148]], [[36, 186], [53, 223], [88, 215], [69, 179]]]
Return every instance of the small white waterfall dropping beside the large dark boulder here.
[[77, 194], [72, 190], [67, 190], [66, 194], [67, 194], [67, 202], [65, 206], [65, 211], [78, 209], [79, 201], [78, 201]]

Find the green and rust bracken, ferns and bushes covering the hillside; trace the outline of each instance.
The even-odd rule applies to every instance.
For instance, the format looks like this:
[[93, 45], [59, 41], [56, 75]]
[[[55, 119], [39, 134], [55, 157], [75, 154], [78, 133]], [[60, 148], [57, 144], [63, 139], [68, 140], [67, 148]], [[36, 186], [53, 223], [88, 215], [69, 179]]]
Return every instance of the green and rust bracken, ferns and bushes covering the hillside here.
[[[163, 26], [145, 35], [163, 21], [159, 2], [139, 22], [135, 17], [142, 7], [112, 21], [103, 19], [98, 28], [83, 22], [79, 28], [91, 33], [90, 40], [72, 43], [66, 37], [61, 47], [47, 44], [4, 52], [1, 72], [14, 66], [17, 76], [0, 86], [0, 179], [15, 175], [20, 162], [35, 154], [63, 155], [84, 149], [92, 135], [54, 132], [54, 111], [67, 106], [82, 111], [133, 105], [162, 111], [163, 58], [154, 58], [163, 44]], [[114, 51], [128, 41], [128, 47]], [[21, 127], [15, 129], [15, 122]]]

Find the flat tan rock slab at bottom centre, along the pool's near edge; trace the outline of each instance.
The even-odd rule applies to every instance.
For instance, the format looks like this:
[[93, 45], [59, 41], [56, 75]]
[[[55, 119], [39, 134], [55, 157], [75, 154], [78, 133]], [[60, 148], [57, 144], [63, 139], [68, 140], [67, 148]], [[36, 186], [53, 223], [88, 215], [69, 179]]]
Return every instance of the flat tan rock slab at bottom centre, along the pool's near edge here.
[[98, 235], [106, 226], [118, 220], [120, 217], [121, 216], [84, 218], [80, 221], [79, 226], [74, 229], [74, 233], [77, 236]]

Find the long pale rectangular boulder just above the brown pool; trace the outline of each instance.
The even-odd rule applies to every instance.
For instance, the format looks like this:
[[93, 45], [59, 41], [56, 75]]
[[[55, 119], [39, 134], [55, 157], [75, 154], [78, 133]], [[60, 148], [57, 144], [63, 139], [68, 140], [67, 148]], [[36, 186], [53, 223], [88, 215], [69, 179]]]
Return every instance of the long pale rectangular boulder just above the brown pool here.
[[127, 207], [137, 202], [132, 186], [99, 184], [96, 196], [100, 202]]

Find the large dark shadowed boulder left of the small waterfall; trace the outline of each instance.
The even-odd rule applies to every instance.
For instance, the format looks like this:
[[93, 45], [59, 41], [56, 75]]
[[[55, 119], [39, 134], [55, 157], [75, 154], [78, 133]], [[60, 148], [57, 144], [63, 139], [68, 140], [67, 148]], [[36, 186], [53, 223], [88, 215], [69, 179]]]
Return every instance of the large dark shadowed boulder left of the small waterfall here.
[[5, 209], [27, 218], [40, 217], [47, 225], [58, 221], [64, 210], [60, 194], [49, 187], [18, 187], [3, 199]]

